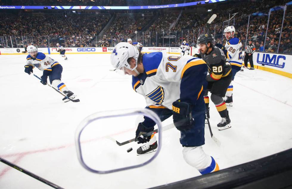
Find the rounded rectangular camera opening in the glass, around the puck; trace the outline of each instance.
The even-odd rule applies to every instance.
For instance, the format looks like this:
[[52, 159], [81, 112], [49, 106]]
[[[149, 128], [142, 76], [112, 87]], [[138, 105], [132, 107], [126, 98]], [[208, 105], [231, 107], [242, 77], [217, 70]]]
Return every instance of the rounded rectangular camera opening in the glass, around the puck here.
[[145, 135], [149, 142], [133, 142], [144, 116], [161, 129], [159, 117], [147, 109], [100, 112], [83, 120], [75, 136], [78, 158], [83, 167], [95, 173], [111, 173], [150, 163], [160, 151], [161, 132], [156, 138], [157, 134], [151, 136], [154, 131], [147, 131]]

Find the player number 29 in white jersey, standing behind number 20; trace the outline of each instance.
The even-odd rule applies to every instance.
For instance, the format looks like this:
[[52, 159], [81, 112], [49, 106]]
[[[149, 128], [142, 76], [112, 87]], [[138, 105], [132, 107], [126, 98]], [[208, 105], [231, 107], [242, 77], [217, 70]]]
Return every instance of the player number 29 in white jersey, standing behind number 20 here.
[[[235, 28], [234, 26], [228, 26], [224, 29], [224, 34], [226, 37], [226, 61], [231, 63], [232, 67], [232, 81], [238, 71], [240, 71], [242, 66], [242, 44], [239, 38], [235, 38]], [[232, 92], [233, 92], [233, 85], [232, 81], [228, 86], [226, 91], [226, 99], [225, 103], [227, 106], [232, 106], [233, 99], [232, 99]]]

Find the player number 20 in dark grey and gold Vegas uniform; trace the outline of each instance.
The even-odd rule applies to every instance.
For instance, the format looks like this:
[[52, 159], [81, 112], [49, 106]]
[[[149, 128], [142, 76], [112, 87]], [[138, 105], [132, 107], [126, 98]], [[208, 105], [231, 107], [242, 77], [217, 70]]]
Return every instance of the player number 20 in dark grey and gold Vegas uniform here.
[[208, 87], [204, 95], [206, 104], [206, 116], [209, 118], [209, 97], [208, 91], [211, 94], [211, 100], [215, 104], [217, 111], [221, 116], [221, 121], [218, 123], [218, 130], [230, 128], [230, 119], [226, 104], [223, 100], [226, 90], [231, 82], [231, 66], [226, 62], [224, 52], [218, 47], [212, 45], [213, 37], [210, 34], [202, 34], [197, 40], [197, 46], [200, 49], [200, 55], [195, 56], [202, 58], [208, 65], [206, 80]]

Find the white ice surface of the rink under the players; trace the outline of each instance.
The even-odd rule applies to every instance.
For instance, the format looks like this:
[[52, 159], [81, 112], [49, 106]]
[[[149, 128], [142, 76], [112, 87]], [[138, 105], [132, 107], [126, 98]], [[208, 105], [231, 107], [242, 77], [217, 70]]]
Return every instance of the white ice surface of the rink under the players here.
[[[108, 54], [67, 55], [68, 61], [59, 55], [49, 55], [63, 66], [62, 81], [80, 98], [79, 103], [63, 103], [60, 94], [24, 72], [26, 56], [0, 56], [0, 157], [68, 189], [149, 188], [200, 175], [184, 161], [180, 134], [175, 128], [162, 133], [160, 154], [142, 168], [105, 175], [84, 169], [77, 160], [74, 144], [77, 125], [98, 111], [144, 108], [144, 97], [133, 91], [131, 76], [109, 71], [112, 67]], [[36, 69], [34, 73], [42, 75]], [[220, 169], [292, 148], [292, 80], [245, 68], [237, 73], [233, 86], [234, 106], [228, 107], [231, 128], [217, 130], [220, 116], [210, 103], [210, 124], [220, 147], [205, 127], [203, 149], [214, 157]], [[171, 123], [171, 119], [162, 124]], [[127, 130], [131, 134], [119, 136], [120, 140], [127, 140], [135, 137], [133, 123], [124, 120], [112, 124], [109, 120], [99, 129], [122, 132], [131, 124], [132, 129]], [[109, 144], [104, 146], [107, 149], [100, 158], [94, 145], [86, 147], [93, 147], [92, 156], [88, 155], [91, 161], [111, 165], [111, 161], [119, 159], [130, 162], [147, 159], [149, 154], [136, 156], [138, 146]], [[133, 151], [127, 153], [130, 147]], [[0, 163], [0, 188], [50, 187]]]

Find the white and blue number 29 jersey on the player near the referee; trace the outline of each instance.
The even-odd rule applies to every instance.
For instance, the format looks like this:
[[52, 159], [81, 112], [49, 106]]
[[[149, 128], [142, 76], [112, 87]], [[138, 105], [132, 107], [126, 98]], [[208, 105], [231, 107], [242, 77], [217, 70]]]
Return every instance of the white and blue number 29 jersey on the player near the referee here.
[[231, 38], [226, 42], [225, 48], [227, 50], [226, 61], [233, 66], [241, 68], [242, 65], [242, 44], [240, 39]]

